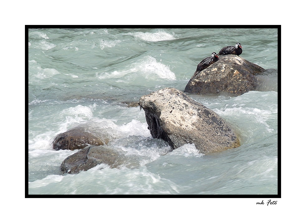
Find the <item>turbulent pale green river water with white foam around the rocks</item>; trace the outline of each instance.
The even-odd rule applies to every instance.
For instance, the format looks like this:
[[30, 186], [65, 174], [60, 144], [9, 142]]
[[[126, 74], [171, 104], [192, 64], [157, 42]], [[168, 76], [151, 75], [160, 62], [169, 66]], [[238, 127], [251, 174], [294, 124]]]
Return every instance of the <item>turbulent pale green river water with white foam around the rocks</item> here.
[[[28, 193], [278, 194], [277, 37], [277, 29], [29, 29]], [[169, 152], [144, 111], [127, 104], [165, 87], [183, 91], [203, 58], [237, 42], [242, 58], [273, 69], [256, 91], [188, 95], [225, 119], [241, 146]], [[111, 136], [137, 166], [60, 172], [78, 150], [51, 143], [78, 126]]]

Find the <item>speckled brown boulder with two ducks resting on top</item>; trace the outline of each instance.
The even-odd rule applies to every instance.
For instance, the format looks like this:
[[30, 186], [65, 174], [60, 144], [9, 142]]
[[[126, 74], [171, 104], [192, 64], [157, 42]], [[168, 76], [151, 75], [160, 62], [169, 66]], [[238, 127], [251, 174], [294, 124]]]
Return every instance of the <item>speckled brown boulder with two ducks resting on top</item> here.
[[255, 75], [264, 70], [237, 55], [220, 56], [220, 60], [191, 78], [184, 92], [206, 94], [224, 91], [242, 95], [255, 90]]

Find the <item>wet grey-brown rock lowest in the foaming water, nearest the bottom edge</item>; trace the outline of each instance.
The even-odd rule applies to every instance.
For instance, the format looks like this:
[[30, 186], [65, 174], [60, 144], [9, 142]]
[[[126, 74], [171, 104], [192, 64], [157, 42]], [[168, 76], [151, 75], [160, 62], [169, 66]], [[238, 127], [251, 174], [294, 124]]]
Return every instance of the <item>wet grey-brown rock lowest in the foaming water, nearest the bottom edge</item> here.
[[126, 158], [127, 152], [120, 148], [109, 146], [87, 146], [84, 149], [67, 157], [60, 165], [64, 173], [78, 173], [89, 170], [99, 164], [105, 163], [111, 168], [124, 165], [128, 168], [139, 166], [135, 159]]

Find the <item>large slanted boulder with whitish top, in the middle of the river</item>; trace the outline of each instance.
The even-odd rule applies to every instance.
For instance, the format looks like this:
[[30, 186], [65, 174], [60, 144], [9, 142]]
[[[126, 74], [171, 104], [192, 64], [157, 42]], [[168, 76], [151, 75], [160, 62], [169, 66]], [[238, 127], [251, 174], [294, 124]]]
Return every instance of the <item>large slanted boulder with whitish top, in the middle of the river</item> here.
[[201, 153], [240, 146], [233, 130], [213, 110], [175, 88], [164, 88], [139, 100], [153, 138], [173, 149], [194, 143]]

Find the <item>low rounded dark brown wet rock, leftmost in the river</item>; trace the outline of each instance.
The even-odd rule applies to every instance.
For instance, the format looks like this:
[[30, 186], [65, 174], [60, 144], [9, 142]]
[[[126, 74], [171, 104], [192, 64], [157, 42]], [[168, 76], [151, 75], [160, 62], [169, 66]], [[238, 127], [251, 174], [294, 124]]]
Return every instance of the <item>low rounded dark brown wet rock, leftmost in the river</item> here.
[[108, 138], [104, 140], [94, 136], [92, 133], [84, 131], [83, 128], [72, 128], [67, 132], [60, 133], [55, 136], [52, 145], [54, 150], [60, 149], [83, 149], [88, 145], [105, 145], [109, 141]]

